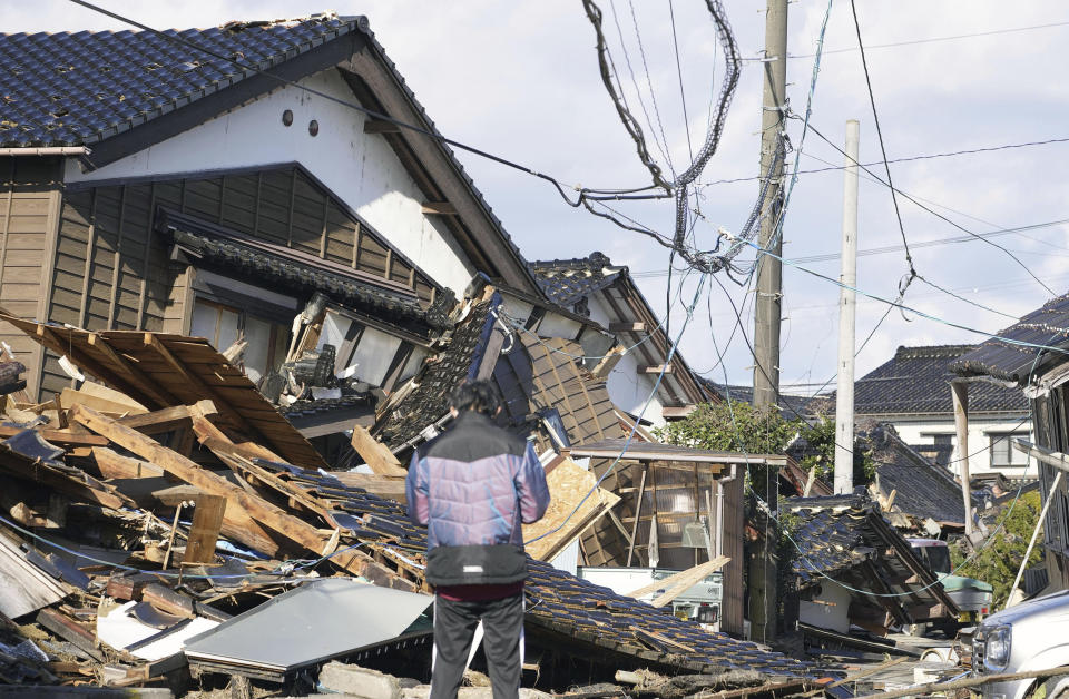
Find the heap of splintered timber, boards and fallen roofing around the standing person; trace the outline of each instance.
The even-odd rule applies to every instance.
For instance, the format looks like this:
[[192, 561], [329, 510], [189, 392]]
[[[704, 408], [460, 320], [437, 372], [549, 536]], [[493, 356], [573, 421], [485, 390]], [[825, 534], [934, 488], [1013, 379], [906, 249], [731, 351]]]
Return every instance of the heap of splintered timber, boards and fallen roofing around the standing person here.
[[[403, 469], [385, 445], [354, 430], [375, 474], [330, 472], [205, 341], [4, 319], [110, 387], [6, 398], [0, 682], [180, 693], [190, 677], [291, 682], [334, 659], [429, 678], [425, 530], [354, 484], [396, 488]], [[569, 464], [551, 464], [560, 488], [578, 478]], [[540, 687], [649, 669], [811, 688], [811, 666], [543, 561], [529, 568], [526, 677]]]

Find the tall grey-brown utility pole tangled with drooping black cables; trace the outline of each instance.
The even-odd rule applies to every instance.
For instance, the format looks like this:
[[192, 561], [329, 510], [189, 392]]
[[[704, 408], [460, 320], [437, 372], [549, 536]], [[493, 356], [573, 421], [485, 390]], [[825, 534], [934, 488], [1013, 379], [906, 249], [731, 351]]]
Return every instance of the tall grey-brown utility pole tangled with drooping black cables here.
[[[761, 100], [761, 175], [769, 174], [782, 134], [786, 130], [784, 108], [787, 101], [787, 0], [767, 0], [765, 13], [765, 75]], [[783, 239], [776, 238], [783, 207], [783, 158], [769, 174], [769, 183], [761, 210], [761, 247], [775, 255], [783, 252]], [[754, 406], [776, 405], [779, 393], [779, 319], [783, 288], [781, 262], [765, 255], [757, 266], [757, 298], [754, 322]], [[773, 466], [752, 466], [751, 482], [757, 494], [776, 509], [779, 498], [779, 478]], [[778, 619], [776, 600], [775, 526], [765, 522], [764, 536], [754, 547], [749, 561], [749, 623], [751, 637], [767, 642], [776, 637]]]

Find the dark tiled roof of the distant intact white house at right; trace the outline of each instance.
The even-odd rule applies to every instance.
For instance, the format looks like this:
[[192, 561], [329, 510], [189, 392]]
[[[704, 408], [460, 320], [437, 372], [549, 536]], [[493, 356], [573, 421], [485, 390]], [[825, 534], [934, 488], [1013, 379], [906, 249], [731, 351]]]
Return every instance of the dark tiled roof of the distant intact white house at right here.
[[[856, 415], [952, 415], [951, 365], [974, 345], [899, 347], [889, 362], [854, 382]], [[834, 401], [834, 393], [830, 400]], [[833, 403], [834, 404], [834, 403]], [[978, 384], [969, 390], [969, 412], [1028, 411], [1028, 401], [1016, 388]]]

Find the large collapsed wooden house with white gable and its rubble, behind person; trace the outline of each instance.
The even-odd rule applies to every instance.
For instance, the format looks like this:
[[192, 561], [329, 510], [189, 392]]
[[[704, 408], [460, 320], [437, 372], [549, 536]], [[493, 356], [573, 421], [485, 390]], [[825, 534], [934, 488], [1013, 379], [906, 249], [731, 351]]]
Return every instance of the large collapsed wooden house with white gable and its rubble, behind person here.
[[[619, 459], [705, 394], [626, 268], [591, 256], [599, 284], [549, 293], [556, 273], [523, 260], [364, 18], [10, 35], [0, 56], [19, 66], [0, 76], [0, 560], [18, 601], [0, 611], [49, 634], [35, 653], [0, 619], [8, 681], [423, 668], [402, 464], [448, 425], [450, 387], [490, 378], [555, 493], [528, 536], [545, 682], [649, 667], [806, 687], [804, 663], [549, 564], [726, 563], [720, 628], [741, 633], [737, 459]], [[614, 372], [640, 388], [610, 395]], [[256, 643], [322, 603], [367, 633]]]

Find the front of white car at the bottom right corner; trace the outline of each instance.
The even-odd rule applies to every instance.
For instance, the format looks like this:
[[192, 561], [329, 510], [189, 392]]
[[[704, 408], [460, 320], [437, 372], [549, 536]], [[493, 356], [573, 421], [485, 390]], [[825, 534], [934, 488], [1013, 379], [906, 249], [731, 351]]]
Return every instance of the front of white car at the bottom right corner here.
[[[972, 668], [980, 677], [1069, 664], [1069, 590], [991, 614], [972, 637]], [[1069, 689], [1069, 676], [983, 685], [985, 699], [1022, 699], [1033, 686], [1047, 697]]]

